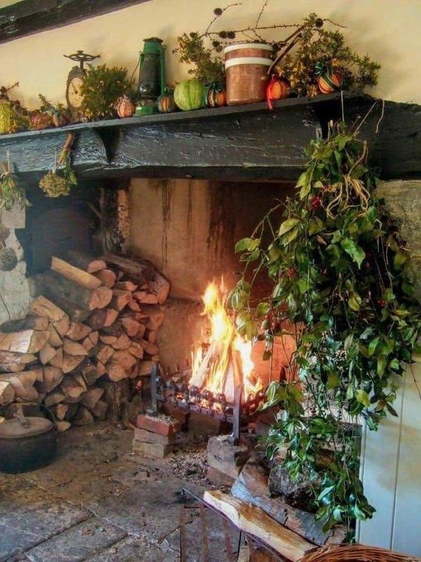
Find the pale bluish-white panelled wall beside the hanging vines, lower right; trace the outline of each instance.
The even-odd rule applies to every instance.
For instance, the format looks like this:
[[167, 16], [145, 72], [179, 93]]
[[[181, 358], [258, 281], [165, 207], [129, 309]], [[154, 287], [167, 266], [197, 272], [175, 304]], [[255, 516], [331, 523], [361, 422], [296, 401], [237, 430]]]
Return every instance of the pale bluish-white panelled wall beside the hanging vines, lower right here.
[[382, 420], [378, 431], [364, 431], [361, 474], [377, 511], [357, 533], [362, 544], [413, 556], [421, 556], [420, 391], [421, 363], [414, 363], [399, 379], [399, 417]]

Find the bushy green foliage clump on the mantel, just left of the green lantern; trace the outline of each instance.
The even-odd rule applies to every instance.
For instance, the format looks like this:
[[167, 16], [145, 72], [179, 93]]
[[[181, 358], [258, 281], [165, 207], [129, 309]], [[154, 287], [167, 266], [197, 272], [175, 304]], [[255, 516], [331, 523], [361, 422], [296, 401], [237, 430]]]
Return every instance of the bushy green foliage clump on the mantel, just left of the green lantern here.
[[126, 74], [127, 70], [121, 67], [100, 65], [88, 68], [81, 86], [81, 113], [85, 119], [98, 121], [114, 117], [117, 101], [131, 89]]

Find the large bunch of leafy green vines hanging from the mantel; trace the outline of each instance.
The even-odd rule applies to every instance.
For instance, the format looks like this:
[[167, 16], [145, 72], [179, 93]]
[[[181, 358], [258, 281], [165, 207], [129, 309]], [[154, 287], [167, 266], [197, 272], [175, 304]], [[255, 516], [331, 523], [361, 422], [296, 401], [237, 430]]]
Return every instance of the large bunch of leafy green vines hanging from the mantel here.
[[[267, 452], [276, 462], [288, 445], [283, 466], [312, 483], [312, 507], [328, 530], [373, 516], [359, 479], [358, 424], [362, 417], [377, 429], [380, 417], [397, 415], [394, 377], [418, 351], [421, 313], [406, 243], [375, 196], [366, 143], [338, 124], [307, 155], [281, 226], [272, 224], [272, 209], [236, 244], [245, 273], [266, 271], [271, 296], [252, 308], [253, 282], [243, 275], [229, 303], [241, 334], [265, 339], [266, 358], [274, 337], [286, 333], [283, 322], [296, 327], [290, 366], [300, 382], [267, 390], [265, 406], [281, 407]], [[262, 247], [267, 230], [272, 242]]]

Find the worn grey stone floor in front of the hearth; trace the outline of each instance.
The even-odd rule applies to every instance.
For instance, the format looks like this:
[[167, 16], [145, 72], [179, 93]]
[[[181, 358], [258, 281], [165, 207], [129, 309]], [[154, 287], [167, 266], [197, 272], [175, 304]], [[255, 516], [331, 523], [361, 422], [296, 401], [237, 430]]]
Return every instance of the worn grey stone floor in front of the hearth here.
[[[203, 560], [199, 511], [183, 509], [180, 489], [211, 488], [205, 440], [152, 461], [131, 452], [132, 439], [109, 422], [72, 428], [50, 466], [0, 474], [0, 562], [178, 562], [181, 513], [185, 560]], [[206, 522], [210, 561], [225, 561], [222, 522], [209, 511]]]

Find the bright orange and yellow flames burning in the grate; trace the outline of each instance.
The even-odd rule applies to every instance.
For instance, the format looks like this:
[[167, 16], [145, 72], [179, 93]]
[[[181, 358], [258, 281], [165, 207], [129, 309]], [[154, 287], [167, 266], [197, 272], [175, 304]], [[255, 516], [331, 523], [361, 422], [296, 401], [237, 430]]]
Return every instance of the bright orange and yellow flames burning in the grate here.
[[208, 349], [203, 344], [196, 346], [192, 353], [192, 379], [190, 384], [206, 389], [215, 396], [223, 393], [227, 400], [232, 400], [234, 391], [234, 362], [232, 354], [239, 352], [243, 398], [258, 392], [262, 388], [260, 379], [255, 376], [251, 360], [250, 341], [244, 340], [236, 333], [232, 318], [225, 308], [227, 292], [221, 280], [220, 287], [215, 282], [209, 283], [203, 294], [203, 315], [210, 322]]

